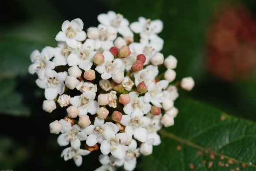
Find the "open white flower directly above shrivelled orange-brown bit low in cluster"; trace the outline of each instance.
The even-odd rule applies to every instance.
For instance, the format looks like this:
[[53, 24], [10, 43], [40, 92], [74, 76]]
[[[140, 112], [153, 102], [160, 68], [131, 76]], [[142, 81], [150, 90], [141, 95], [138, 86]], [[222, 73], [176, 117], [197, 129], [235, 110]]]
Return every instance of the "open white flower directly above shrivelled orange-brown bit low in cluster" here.
[[116, 124], [113, 124], [111, 122], [107, 122], [104, 124], [104, 119], [99, 119], [98, 117], [96, 117], [94, 120], [94, 125], [89, 125], [81, 131], [88, 135], [86, 144], [92, 147], [97, 143], [102, 143], [102, 141], [104, 140], [104, 131], [107, 129], [113, 130], [115, 134], [119, 131]]

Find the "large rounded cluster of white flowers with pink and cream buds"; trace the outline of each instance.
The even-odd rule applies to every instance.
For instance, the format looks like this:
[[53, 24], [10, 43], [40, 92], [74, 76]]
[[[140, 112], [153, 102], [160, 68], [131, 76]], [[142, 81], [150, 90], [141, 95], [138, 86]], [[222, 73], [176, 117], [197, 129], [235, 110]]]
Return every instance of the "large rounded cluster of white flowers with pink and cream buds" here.
[[[100, 149], [97, 171], [120, 166], [132, 171], [138, 156], [150, 155], [161, 143], [162, 125], [174, 124], [177, 85], [189, 91], [194, 81], [188, 77], [171, 85], [177, 59], [159, 52], [162, 21], [139, 17], [129, 25], [113, 11], [98, 15], [98, 21], [87, 33], [81, 19], [65, 21], [55, 38], [58, 47], [31, 53], [29, 72], [38, 74], [36, 84], [45, 89], [43, 110], [53, 112], [56, 102], [66, 109], [64, 119], [49, 125], [52, 134], [61, 133], [60, 146], [70, 144], [61, 153], [64, 160], [80, 166], [82, 156]], [[158, 75], [160, 66], [167, 71]]]

